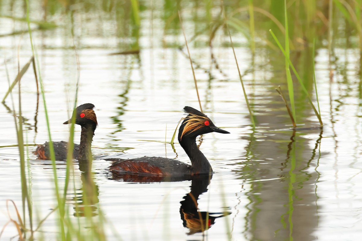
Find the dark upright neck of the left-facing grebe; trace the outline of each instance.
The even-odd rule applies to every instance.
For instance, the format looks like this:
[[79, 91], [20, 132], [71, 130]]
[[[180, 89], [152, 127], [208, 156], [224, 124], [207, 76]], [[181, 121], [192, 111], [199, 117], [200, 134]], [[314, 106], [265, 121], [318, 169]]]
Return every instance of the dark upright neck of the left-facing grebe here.
[[94, 136], [94, 130], [96, 130], [95, 124], [87, 124], [81, 126], [80, 144], [79, 144], [79, 161], [92, 160], [92, 141]]

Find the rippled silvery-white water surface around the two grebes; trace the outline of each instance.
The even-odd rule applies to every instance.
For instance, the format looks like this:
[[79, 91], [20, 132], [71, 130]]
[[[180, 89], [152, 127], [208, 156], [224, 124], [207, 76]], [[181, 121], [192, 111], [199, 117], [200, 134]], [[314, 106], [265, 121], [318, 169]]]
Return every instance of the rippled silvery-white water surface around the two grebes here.
[[[78, 103], [93, 103], [99, 123], [92, 145], [94, 155], [167, 156], [189, 163], [180, 145], [176, 144], [173, 150], [169, 142], [183, 116], [182, 108], [199, 109], [194, 80], [186, 50], [163, 47], [163, 27], [159, 26], [157, 13], [156, 10], [153, 13], [151, 28], [142, 25], [139, 55], [110, 55], [129, 50], [129, 42], [134, 40], [117, 38], [115, 23], [103, 15], [102, 21], [91, 22], [93, 25], [87, 23], [91, 13], [77, 12], [73, 16], [74, 42], [80, 62]], [[144, 16], [147, 14], [151, 14], [150, 11], [143, 12]], [[55, 14], [52, 19], [63, 21], [60, 22], [63, 25], [70, 21], [62, 14]], [[81, 27], [77, 27], [78, 24]], [[188, 38], [193, 36], [193, 24], [186, 20]], [[17, 74], [18, 46], [20, 66], [30, 59], [31, 47], [27, 33], [7, 35], [26, 30], [24, 23], [0, 18], [0, 30], [0, 53], [6, 62], [6, 65], [0, 64], [2, 98], [8, 89], [6, 68], [10, 81]], [[362, 234], [359, 50], [335, 50], [337, 60], [331, 82], [328, 50], [319, 48], [316, 79], [324, 128], [317, 127], [317, 118], [297, 87], [297, 122], [303, 125], [293, 132], [289, 129], [285, 105], [274, 90], [278, 85], [287, 89], [283, 57], [260, 48], [253, 64], [250, 49], [243, 47], [243, 36], [236, 34], [235, 42], [241, 43], [235, 48], [241, 72], [253, 66], [244, 76], [258, 126], [253, 132], [232, 49], [222, 44], [227, 36], [220, 34], [217, 38], [213, 53], [218, 68], [210, 65], [210, 48], [198, 44], [202, 40], [190, 44], [203, 111], [218, 127], [231, 133], [206, 134], [202, 140], [198, 139], [201, 151], [215, 171], [210, 184], [205, 180], [151, 183], [114, 180], [107, 171], [110, 163], [102, 159], [94, 160], [94, 180], [87, 184], [87, 172], [83, 171], [86, 167], [75, 162], [71, 186], [77, 191], [74, 193], [73, 188], [68, 191], [67, 210], [81, 216], [82, 210], [77, 210], [75, 203], [84, 202], [81, 188], [93, 185], [97, 196], [88, 202], [93, 202], [94, 208], [104, 213], [109, 240], [119, 237], [123, 240], [227, 240], [228, 232], [232, 240], [358, 240]], [[67, 140], [69, 127], [62, 123], [69, 118], [77, 80], [71, 32], [64, 26], [35, 31], [34, 39], [52, 139]], [[165, 41], [182, 45], [182, 33], [169, 35]], [[304, 61], [303, 56], [300, 61]], [[300, 71], [303, 74], [306, 70]], [[310, 87], [315, 101], [312, 89]], [[13, 99], [18, 113], [17, 88]], [[10, 96], [5, 104], [0, 105], [0, 227], [9, 221], [5, 200], [13, 200], [21, 211], [20, 158]], [[21, 80], [21, 106], [26, 129], [24, 138], [29, 144], [27, 173], [34, 219], [39, 221], [56, 207], [56, 198], [51, 162], [35, 160], [32, 154], [35, 144], [48, 141], [48, 137], [42, 101], [36, 109], [36, 86], [30, 69]], [[80, 128], [76, 126], [76, 142], [79, 136]], [[57, 167], [57, 178], [63, 186], [65, 162], [57, 162]], [[186, 205], [184, 202], [181, 206], [180, 202], [190, 192], [191, 184], [195, 186], [193, 194], [199, 195], [201, 212], [219, 213], [214, 216], [230, 213], [212, 220], [214, 223], [205, 232], [206, 237], [183, 225], [180, 207]], [[16, 219], [13, 208], [9, 209]], [[56, 222], [53, 213], [43, 223], [38, 237], [54, 240]], [[87, 227], [85, 223], [80, 225]], [[8, 224], [1, 240], [9, 240], [16, 234], [14, 225]]]

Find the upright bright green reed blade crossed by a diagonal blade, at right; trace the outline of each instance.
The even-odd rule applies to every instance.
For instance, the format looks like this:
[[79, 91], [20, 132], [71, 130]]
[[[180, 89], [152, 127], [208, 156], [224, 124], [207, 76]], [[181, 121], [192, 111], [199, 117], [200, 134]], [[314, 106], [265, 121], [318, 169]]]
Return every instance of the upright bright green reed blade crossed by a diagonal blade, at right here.
[[293, 80], [290, 74], [289, 69], [289, 30], [288, 30], [288, 14], [287, 14], [287, 2], [284, 0], [284, 18], [285, 18], [285, 72], [287, 75], [287, 84], [288, 84], [288, 93], [289, 93], [289, 101], [290, 106], [292, 109], [292, 115], [294, 121], [295, 118], [295, 104], [294, 104], [294, 87], [293, 87]]

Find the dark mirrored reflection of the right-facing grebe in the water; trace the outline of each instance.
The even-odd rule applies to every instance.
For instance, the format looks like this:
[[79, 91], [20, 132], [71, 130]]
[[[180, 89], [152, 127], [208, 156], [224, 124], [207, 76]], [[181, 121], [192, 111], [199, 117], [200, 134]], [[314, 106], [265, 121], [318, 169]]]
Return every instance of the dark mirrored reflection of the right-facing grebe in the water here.
[[112, 174], [110, 179], [125, 182], [174, 182], [191, 181], [191, 190], [184, 196], [180, 207], [181, 220], [184, 227], [189, 229], [188, 235], [203, 232], [209, 229], [215, 219], [230, 215], [231, 212], [205, 212], [198, 210], [199, 196], [207, 192], [212, 175], [181, 176], [181, 177], [162, 177], [162, 176], [137, 176], [132, 174]]

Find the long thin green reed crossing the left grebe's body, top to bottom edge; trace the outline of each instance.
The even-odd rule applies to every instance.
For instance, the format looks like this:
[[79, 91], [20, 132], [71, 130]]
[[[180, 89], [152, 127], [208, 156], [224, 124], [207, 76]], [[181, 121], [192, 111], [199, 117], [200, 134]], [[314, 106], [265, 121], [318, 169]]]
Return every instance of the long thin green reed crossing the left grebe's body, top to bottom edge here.
[[62, 240], [66, 240], [65, 229], [64, 229], [64, 208], [63, 208], [64, 206], [62, 204], [63, 200], [62, 200], [62, 198], [60, 197], [60, 194], [59, 194], [58, 179], [57, 179], [58, 175], [56, 173], [54, 146], [53, 146], [53, 142], [51, 141], [50, 123], [49, 123], [49, 116], [48, 116], [48, 111], [47, 111], [47, 107], [46, 107], [44, 84], [43, 84], [43, 80], [42, 80], [40, 70], [39, 70], [39, 66], [40, 66], [39, 65], [39, 59], [38, 59], [37, 52], [35, 51], [33, 35], [31, 33], [31, 29], [30, 29], [29, 0], [25, 0], [25, 3], [26, 3], [26, 22], [28, 23], [28, 31], [29, 31], [29, 37], [30, 37], [31, 51], [32, 51], [33, 56], [34, 56], [34, 58], [36, 60], [35, 61], [36, 65], [37, 65], [36, 69], [38, 69], [38, 78], [39, 78], [39, 83], [40, 83], [40, 88], [41, 88], [41, 93], [42, 93], [44, 112], [45, 112], [45, 119], [46, 119], [47, 130], [48, 130], [50, 158], [52, 160], [52, 167], [53, 167], [54, 188], [55, 188], [55, 195], [56, 195], [56, 199], [58, 201], [58, 207], [59, 207], [59, 223], [60, 223], [61, 238], [62, 238]]

